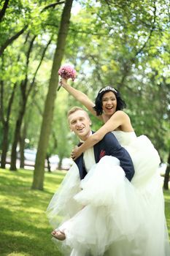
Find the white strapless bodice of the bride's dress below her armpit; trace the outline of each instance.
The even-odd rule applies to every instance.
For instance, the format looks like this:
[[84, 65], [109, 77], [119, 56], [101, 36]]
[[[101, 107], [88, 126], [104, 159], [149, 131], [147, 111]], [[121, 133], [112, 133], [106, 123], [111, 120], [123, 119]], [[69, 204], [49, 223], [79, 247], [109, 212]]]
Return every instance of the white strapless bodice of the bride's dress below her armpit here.
[[112, 133], [115, 135], [121, 146], [128, 146], [136, 139], [135, 132], [113, 131]]

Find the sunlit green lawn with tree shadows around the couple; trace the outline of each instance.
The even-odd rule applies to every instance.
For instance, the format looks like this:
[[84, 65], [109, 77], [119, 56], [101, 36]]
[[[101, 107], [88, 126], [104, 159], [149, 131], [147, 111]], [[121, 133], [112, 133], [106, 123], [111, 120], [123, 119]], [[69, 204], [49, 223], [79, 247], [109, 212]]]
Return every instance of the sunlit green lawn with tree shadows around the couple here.
[[[32, 170], [0, 169], [0, 255], [61, 256], [45, 210], [65, 172], [45, 173], [45, 190], [31, 190]], [[164, 192], [170, 236], [170, 191]]]

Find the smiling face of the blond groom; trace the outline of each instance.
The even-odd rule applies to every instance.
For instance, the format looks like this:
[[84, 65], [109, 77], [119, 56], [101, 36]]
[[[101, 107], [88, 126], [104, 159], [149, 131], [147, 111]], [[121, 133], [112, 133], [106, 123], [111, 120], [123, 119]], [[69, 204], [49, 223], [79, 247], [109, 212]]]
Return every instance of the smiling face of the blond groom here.
[[69, 117], [69, 127], [81, 140], [87, 140], [90, 135], [90, 118], [84, 110], [77, 110]]

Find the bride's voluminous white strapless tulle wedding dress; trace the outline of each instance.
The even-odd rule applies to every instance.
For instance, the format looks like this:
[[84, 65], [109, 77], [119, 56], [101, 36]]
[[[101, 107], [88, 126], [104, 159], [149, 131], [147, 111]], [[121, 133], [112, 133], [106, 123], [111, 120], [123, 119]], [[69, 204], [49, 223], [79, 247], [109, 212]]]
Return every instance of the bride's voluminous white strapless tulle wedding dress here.
[[66, 233], [63, 255], [169, 256], [158, 152], [144, 135], [113, 133], [131, 155], [134, 178], [105, 156], [80, 182], [73, 163], [47, 208], [53, 227]]

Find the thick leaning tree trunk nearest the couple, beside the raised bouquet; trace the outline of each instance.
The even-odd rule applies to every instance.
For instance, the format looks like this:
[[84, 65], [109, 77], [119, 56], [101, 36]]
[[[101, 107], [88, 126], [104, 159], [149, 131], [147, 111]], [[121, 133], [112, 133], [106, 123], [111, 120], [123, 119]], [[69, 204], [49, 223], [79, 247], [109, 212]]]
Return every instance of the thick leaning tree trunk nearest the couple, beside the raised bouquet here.
[[42, 128], [40, 132], [39, 145], [36, 154], [36, 163], [34, 169], [34, 179], [32, 189], [43, 189], [45, 176], [45, 157], [47, 151], [48, 140], [50, 136], [50, 128], [53, 121], [53, 109], [55, 105], [56, 89], [58, 87], [58, 69], [61, 67], [64, 48], [66, 45], [66, 36], [69, 31], [69, 20], [71, 16], [73, 0], [66, 0], [61, 16], [61, 24], [58, 31], [57, 47], [53, 59], [53, 67], [50, 76], [49, 89], [45, 102], [45, 110], [42, 119]]

